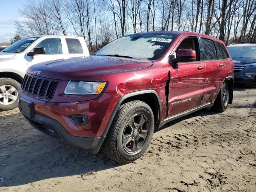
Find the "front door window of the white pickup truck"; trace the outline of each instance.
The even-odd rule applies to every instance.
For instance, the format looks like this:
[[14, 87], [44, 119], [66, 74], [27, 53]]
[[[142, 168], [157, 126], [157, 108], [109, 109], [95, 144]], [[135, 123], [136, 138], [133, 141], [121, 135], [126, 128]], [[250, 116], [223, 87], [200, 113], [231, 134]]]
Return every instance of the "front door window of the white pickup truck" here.
[[62, 54], [62, 46], [60, 38], [48, 38], [45, 40], [42, 40], [37, 47], [44, 47], [45, 48], [45, 54], [52, 55], [52, 54]]

